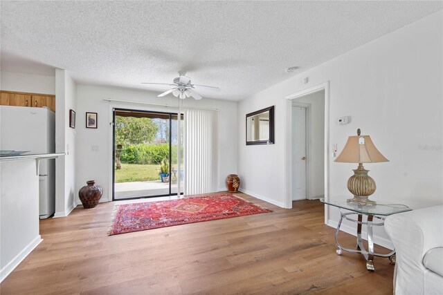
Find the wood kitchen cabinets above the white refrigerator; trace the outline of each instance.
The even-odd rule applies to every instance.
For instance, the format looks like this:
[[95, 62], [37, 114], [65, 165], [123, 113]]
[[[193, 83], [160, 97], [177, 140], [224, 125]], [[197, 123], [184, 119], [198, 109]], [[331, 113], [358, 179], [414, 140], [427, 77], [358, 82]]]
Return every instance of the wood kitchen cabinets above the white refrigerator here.
[[55, 112], [55, 95], [1, 91], [0, 105], [31, 106], [37, 108], [46, 106], [51, 111]]

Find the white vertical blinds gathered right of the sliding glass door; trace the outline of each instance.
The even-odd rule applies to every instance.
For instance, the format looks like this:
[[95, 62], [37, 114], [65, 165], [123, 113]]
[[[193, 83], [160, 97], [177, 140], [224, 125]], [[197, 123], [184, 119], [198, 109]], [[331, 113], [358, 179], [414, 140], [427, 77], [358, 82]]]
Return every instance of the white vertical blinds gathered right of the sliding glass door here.
[[184, 111], [185, 195], [218, 191], [217, 111]]

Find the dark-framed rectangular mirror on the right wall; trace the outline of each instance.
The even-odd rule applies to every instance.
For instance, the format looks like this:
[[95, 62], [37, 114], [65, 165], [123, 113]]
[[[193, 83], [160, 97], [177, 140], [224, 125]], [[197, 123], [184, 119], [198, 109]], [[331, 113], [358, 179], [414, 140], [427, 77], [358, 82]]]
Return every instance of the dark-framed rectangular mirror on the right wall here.
[[246, 114], [246, 145], [274, 143], [274, 106]]

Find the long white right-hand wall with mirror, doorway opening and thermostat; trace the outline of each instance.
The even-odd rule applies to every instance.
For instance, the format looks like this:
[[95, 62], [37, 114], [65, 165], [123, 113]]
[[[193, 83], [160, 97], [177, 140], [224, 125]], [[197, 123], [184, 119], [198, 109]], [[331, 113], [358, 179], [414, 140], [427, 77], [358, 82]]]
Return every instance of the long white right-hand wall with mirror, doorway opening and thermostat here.
[[[282, 173], [291, 104], [284, 96], [329, 82], [329, 151], [336, 143], [340, 152], [347, 137], [361, 128], [390, 160], [366, 165], [377, 182], [374, 198], [415, 208], [443, 203], [442, 38], [440, 11], [239, 102], [243, 188], [257, 198], [289, 205]], [[309, 82], [302, 84], [305, 77]], [[273, 104], [275, 145], [245, 146], [244, 116]], [[344, 115], [352, 117], [351, 123], [338, 126], [337, 118]], [[356, 165], [334, 163], [330, 156], [328, 162], [330, 196], [349, 196], [346, 182]], [[328, 222], [334, 225], [338, 213], [329, 211]], [[386, 241], [383, 232], [376, 234]]]

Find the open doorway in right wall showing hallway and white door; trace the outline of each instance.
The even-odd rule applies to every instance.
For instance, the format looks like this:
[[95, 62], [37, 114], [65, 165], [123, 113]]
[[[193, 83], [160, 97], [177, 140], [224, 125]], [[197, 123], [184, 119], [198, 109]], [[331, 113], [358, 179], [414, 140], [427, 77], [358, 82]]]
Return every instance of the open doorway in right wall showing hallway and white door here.
[[325, 90], [292, 101], [292, 200], [325, 196]]

